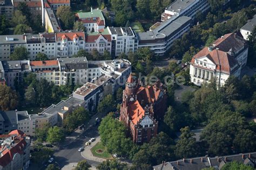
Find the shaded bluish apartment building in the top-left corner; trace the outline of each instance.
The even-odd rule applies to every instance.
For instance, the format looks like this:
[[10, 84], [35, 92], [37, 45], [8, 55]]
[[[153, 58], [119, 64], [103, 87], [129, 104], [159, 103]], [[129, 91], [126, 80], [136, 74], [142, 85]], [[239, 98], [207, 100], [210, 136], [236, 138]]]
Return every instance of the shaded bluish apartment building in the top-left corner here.
[[11, 0], [1, 0], [0, 1], [0, 15], [5, 15], [6, 19], [11, 19], [14, 13], [14, 5], [12, 5]]

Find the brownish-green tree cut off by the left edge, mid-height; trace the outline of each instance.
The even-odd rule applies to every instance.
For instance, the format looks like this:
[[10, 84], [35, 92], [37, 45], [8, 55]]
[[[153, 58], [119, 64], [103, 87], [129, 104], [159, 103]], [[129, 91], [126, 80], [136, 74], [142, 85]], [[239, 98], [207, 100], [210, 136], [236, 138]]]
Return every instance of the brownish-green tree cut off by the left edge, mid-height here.
[[0, 110], [15, 110], [18, 105], [17, 93], [11, 87], [0, 84]]

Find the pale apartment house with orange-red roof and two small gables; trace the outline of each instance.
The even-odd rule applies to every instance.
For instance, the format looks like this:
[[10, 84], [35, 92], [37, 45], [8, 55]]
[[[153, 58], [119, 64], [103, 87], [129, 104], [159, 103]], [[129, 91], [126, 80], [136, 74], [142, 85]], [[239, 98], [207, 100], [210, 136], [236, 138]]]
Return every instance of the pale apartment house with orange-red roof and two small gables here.
[[83, 31], [56, 33], [57, 57], [71, 57], [76, 55], [80, 49], [84, 49], [84, 45], [85, 33]]

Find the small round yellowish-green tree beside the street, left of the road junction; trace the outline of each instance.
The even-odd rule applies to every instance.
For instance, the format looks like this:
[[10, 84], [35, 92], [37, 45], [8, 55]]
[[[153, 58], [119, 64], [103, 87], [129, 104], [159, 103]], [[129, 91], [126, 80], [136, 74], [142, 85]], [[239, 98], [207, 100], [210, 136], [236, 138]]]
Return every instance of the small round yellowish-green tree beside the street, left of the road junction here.
[[64, 139], [65, 134], [62, 128], [58, 126], [53, 126], [49, 128], [46, 141], [48, 141], [50, 144], [59, 144]]

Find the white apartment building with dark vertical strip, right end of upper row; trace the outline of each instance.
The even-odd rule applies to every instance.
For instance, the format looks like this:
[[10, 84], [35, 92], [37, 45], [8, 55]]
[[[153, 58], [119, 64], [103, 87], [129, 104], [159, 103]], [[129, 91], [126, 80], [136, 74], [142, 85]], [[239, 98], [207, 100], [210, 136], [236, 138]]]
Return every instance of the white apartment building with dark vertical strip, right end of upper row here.
[[119, 56], [121, 53], [126, 55], [138, 49], [137, 36], [130, 27], [109, 27], [107, 26], [112, 38], [111, 55]]

